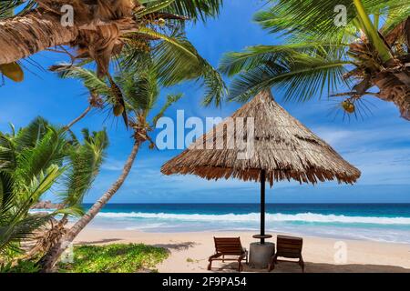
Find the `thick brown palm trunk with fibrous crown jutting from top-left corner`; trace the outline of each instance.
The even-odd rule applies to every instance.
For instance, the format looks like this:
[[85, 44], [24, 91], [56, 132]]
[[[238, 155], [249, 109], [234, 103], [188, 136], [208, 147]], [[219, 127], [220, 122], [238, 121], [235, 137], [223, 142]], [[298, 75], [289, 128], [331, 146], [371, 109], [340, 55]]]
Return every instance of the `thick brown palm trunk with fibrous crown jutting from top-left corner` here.
[[[107, 63], [106, 59], [109, 59], [114, 47], [119, 47], [119, 50], [122, 47], [118, 44], [118, 37], [138, 31], [132, 12], [142, 6], [133, 0], [90, 3], [37, 0], [39, 7], [26, 15], [0, 20], [0, 65], [13, 63], [56, 45], [79, 46], [83, 56]], [[74, 23], [70, 25], [62, 23], [64, 14], [60, 12], [61, 7], [67, 4], [74, 11]]]

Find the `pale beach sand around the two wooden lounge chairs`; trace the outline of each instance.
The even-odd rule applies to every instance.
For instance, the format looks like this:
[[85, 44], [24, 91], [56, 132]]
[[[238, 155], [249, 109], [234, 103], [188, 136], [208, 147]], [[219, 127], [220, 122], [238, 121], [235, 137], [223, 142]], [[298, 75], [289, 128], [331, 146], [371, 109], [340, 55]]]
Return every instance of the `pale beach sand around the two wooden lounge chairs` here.
[[[249, 249], [251, 232], [187, 232], [144, 233], [135, 230], [87, 228], [76, 244], [103, 245], [113, 243], [143, 243], [169, 249], [169, 258], [157, 266], [160, 273], [198, 273], [207, 270], [208, 257], [214, 253], [213, 236], [241, 236]], [[269, 241], [274, 242], [275, 236]], [[339, 242], [338, 244], [336, 244]], [[343, 242], [343, 243], [340, 243]], [[345, 246], [345, 261], [340, 247]], [[339, 253], [337, 253], [339, 251]], [[342, 254], [337, 256], [336, 254]], [[305, 272], [409, 272], [410, 245], [354, 241], [303, 236], [302, 256]], [[336, 263], [334, 257], [336, 256]], [[236, 262], [214, 262], [211, 272], [236, 272]], [[244, 266], [244, 272], [267, 272]], [[297, 264], [280, 262], [272, 272], [301, 272]]]

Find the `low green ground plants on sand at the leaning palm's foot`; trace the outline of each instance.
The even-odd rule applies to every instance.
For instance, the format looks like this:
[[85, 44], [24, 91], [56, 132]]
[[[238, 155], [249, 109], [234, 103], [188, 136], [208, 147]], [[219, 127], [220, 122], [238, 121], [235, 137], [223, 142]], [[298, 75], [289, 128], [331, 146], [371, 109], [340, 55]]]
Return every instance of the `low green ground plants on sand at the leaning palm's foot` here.
[[60, 272], [69, 273], [135, 273], [152, 270], [169, 256], [162, 247], [143, 244], [113, 244], [108, 246], [76, 246], [74, 263], [59, 264]]

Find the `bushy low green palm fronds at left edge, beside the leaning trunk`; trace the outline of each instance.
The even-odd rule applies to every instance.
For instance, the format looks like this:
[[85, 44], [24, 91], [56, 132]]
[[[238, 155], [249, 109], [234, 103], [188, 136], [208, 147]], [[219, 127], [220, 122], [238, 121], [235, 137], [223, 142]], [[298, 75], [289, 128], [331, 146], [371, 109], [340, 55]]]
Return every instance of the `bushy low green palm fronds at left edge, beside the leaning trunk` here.
[[[82, 200], [97, 176], [108, 137], [106, 131], [90, 135], [83, 130], [84, 142], [79, 143], [75, 135], [67, 136], [64, 128], [41, 117], [17, 132], [11, 129], [9, 134], [0, 133], [0, 253], [18, 251], [22, 239], [36, 239], [35, 230], [63, 215], [40, 237], [32, 250], [36, 253], [46, 237], [58, 238], [67, 216], [84, 213]], [[56, 183], [60, 207], [46, 216], [30, 214], [29, 209]]]

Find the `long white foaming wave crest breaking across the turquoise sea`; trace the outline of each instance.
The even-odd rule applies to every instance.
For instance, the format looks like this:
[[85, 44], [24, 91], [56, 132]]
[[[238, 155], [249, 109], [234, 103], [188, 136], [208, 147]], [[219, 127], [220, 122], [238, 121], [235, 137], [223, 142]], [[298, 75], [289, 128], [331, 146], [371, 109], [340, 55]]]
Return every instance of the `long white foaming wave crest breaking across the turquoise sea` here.
[[[144, 213], [144, 212], [101, 212], [97, 216], [107, 218], [150, 218], [171, 219], [185, 221], [208, 222], [258, 222], [259, 213], [250, 214], [225, 214], [225, 215], [200, 215], [200, 214], [169, 214], [169, 213]], [[266, 214], [267, 222], [301, 222], [301, 223], [340, 223], [340, 224], [372, 224], [372, 225], [409, 225], [410, 217], [376, 217], [376, 216], [339, 216], [322, 215], [315, 213]]]

